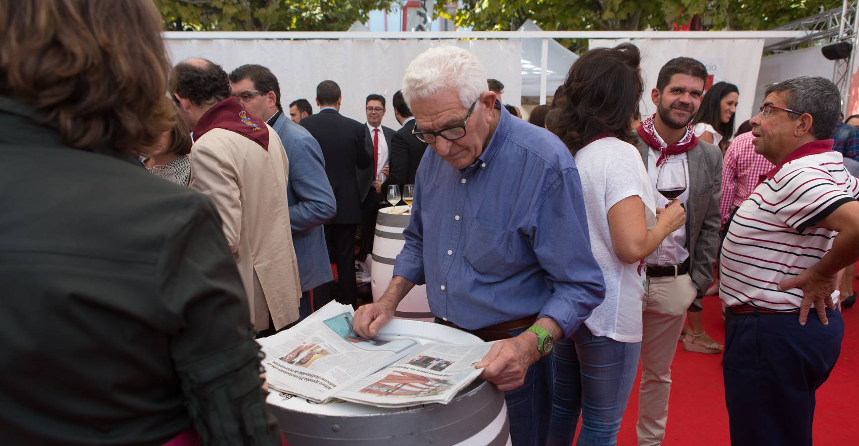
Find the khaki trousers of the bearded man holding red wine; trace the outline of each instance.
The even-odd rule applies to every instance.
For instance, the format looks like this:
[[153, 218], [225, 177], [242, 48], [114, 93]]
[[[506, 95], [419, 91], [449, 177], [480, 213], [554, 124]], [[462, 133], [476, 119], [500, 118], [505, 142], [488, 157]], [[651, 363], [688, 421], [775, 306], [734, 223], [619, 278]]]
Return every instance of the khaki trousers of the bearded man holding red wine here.
[[642, 382], [636, 425], [639, 446], [660, 444], [665, 437], [671, 361], [683, 330], [686, 309], [697, 295], [688, 274], [647, 278], [642, 301]]

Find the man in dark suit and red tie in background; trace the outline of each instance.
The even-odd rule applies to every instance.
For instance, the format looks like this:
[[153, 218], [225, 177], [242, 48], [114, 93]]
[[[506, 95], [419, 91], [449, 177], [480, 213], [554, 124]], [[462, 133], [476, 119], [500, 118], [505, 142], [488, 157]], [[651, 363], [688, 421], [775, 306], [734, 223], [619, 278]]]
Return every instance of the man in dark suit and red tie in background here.
[[[364, 249], [373, 252], [373, 233], [376, 212], [385, 201], [387, 191], [381, 190], [382, 169], [387, 166], [393, 129], [381, 125], [385, 117], [385, 96], [369, 95], [366, 101], [367, 123], [364, 125], [364, 145], [373, 163], [369, 168], [358, 168], [358, 192], [361, 194], [361, 233]], [[402, 191], [400, 191], [402, 192]]]

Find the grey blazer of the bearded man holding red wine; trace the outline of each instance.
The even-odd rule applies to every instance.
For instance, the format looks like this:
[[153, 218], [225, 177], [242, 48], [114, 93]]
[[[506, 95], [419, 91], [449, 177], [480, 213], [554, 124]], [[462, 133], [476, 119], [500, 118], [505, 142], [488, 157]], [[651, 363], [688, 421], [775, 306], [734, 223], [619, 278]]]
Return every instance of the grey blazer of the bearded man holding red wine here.
[[[636, 147], [647, 168], [649, 146], [637, 137]], [[686, 243], [689, 275], [698, 296], [713, 282], [713, 267], [719, 254], [719, 199], [722, 197], [722, 150], [699, 141], [686, 152], [689, 158], [689, 201], [686, 203]]]

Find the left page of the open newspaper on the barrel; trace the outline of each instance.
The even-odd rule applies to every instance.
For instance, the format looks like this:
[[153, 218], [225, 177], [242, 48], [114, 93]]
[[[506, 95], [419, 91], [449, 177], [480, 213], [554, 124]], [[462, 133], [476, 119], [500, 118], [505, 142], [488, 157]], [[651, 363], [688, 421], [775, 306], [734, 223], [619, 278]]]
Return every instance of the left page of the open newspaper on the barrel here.
[[257, 339], [271, 388], [325, 401], [350, 384], [420, 347], [417, 339], [363, 339], [352, 331], [355, 311], [330, 302], [295, 327]]

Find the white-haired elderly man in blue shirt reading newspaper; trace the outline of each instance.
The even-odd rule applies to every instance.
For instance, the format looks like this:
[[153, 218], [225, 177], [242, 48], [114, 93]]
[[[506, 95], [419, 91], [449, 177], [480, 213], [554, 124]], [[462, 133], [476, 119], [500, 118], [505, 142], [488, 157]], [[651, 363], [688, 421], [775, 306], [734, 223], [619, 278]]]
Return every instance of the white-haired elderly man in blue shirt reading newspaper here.
[[555, 135], [514, 119], [478, 58], [438, 46], [403, 80], [413, 133], [430, 144], [394, 277], [355, 317], [372, 338], [415, 284], [436, 321], [498, 340], [481, 377], [506, 391], [513, 443], [545, 444], [551, 345], [602, 302], [576, 164]]

